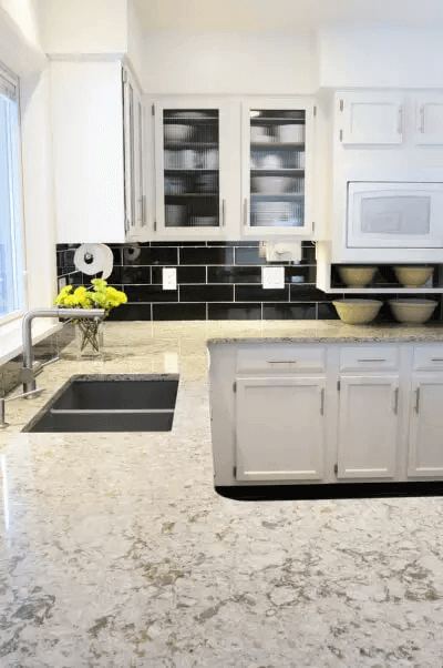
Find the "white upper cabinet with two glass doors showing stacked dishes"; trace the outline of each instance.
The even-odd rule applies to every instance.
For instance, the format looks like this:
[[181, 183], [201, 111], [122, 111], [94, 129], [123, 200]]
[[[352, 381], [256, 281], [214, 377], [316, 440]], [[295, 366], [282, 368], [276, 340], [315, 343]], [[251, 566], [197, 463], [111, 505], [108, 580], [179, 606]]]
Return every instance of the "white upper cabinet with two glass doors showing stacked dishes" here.
[[174, 98], [153, 114], [153, 237], [311, 235], [306, 100]]

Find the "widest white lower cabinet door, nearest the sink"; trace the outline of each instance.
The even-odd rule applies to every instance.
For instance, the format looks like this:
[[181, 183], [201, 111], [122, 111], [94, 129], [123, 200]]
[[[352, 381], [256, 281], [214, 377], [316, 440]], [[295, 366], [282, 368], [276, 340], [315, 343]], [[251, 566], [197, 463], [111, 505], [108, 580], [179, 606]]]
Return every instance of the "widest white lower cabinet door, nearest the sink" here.
[[326, 378], [239, 378], [238, 480], [321, 480]]

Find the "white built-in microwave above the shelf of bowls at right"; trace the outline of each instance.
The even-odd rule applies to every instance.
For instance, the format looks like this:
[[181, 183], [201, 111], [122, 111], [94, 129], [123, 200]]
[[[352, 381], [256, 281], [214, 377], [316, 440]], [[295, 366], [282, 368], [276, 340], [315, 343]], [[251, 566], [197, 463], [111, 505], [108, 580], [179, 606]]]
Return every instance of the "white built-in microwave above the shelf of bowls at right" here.
[[443, 247], [443, 183], [349, 181], [349, 249]]

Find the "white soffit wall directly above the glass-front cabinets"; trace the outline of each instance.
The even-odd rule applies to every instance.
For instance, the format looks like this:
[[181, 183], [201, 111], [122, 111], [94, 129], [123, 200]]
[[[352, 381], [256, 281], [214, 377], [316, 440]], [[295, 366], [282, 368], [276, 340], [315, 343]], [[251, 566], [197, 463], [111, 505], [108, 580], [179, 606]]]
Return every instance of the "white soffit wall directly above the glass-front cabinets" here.
[[313, 92], [308, 34], [157, 31], [145, 34], [146, 93], [305, 94]]

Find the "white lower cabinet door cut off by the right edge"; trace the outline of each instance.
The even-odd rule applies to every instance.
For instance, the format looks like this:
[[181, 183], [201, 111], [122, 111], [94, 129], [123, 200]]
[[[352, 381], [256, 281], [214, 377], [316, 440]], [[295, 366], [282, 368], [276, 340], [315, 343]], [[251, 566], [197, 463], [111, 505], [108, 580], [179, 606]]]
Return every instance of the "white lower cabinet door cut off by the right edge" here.
[[414, 376], [410, 404], [409, 476], [443, 476], [443, 375]]

